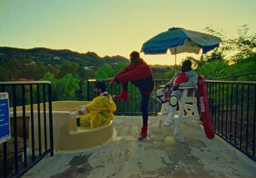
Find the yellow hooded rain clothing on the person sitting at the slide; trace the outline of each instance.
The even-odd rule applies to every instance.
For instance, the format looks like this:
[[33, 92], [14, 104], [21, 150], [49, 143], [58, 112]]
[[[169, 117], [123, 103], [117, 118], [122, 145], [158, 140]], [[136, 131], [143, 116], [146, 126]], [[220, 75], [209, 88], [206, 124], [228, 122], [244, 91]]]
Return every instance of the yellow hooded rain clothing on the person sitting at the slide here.
[[98, 96], [92, 100], [92, 103], [84, 106], [88, 114], [77, 116], [81, 118], [81, 126], [98, 128], [111, 122], [114, 118], [113, 112], [116, 111], [116, 105], [112, 96], [110, 94], [108, 94], [108, 96]]

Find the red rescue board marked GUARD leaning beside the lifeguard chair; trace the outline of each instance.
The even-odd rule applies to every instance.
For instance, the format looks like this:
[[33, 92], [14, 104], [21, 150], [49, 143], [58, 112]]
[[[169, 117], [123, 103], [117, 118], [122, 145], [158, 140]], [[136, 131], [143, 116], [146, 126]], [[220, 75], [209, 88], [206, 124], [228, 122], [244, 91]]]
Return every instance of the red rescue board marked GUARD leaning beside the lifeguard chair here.
[[200, 105], [200, 115], [204, 126], [204, 132], [207, 138], [214, 138], [214, 129], [208, 103], [207, 87], [205, 78], [202, 75], [198, 76], [198, 98]]

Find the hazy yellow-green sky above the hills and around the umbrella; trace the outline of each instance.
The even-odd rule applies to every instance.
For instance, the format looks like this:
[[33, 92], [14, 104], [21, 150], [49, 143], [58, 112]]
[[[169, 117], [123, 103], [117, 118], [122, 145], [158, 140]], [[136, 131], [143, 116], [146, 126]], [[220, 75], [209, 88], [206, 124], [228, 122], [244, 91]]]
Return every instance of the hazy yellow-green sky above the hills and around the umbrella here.
[[[167, 31], [212, 27], [237, 37], [256, 32], [255, 0], [0, 0], [0, 47], [68, 49], [124, 56]], [[177, 63], [191, 54], [178, 54]], [[143, 55], [148, 64], [173, 64], [175, 56]], [[194, 56], [199, 57], [199, 56]]]

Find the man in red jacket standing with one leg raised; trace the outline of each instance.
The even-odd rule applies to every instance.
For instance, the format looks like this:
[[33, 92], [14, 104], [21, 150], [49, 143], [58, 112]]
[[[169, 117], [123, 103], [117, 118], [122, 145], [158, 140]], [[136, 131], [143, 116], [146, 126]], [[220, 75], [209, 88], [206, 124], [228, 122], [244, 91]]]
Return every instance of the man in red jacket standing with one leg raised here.
[[141, 94], [141, 112], [143, 125], [139, 138], [147, 137], [148, 130], [148, 101], [154, 89], [154, 80], [152, 78], [152, 70], [143, 59], [140, 58], [140, 53], [133, 51], [130, 54], [131, 64], [126, 66], [122, 71], [118, 72], [115, 77], [106, 78], [111, 81], [110, 85], [122, 84], [122, 93], [115, 96], [117, 100], [128, 101], [128, 82], [138, 87]]

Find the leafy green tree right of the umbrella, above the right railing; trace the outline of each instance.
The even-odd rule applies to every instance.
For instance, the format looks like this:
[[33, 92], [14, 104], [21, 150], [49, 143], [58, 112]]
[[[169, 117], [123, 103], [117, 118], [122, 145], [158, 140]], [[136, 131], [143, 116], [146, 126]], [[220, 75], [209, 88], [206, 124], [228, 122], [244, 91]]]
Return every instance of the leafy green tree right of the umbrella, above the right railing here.
[[[232, 75], [240, 75], [255, 71], [256, 59], [256, 34], [248, 34], [248, 24], [237, 27], [238, 37], [231, 39], [205, 28], [205, 31], [218, 36], [223, 40], [219, 48], [215, 48], [212, 54], [203, 55], [197, 63], [196, 73], [204, 75], [205, 78], [219, 78]], [[227, 56], [230, 53], [232, 56]], [[226, 57], [224, 59], [224, 57]], [[244, 75], [241, 77], [225, 78], [223, 80], [255, 81], [255, 75]]]

